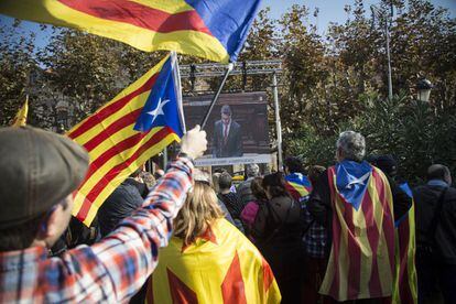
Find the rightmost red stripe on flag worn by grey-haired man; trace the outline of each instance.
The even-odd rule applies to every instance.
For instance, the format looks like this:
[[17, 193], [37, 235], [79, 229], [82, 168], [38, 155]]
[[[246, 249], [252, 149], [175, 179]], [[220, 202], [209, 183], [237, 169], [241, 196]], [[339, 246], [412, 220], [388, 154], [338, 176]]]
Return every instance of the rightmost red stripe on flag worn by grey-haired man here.
[[383, 178], [380, 174], [372, 170], [372, 177], [376, 181], [377, 193], [383, 207], [382, 229], [388, 246], [388, 257], [390, 259], [391, 272], [394, 273], [394, 219], [390, 208], [390, 202], [387, 200], [386, 187]]

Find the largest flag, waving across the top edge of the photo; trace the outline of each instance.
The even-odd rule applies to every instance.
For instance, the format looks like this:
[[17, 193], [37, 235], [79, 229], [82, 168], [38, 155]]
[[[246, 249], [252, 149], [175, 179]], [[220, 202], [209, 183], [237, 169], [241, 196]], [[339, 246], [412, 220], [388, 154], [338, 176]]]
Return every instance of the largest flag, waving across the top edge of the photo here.
[[261, 0], [2, 0], [0, 13], [75, 28], [139, 50], [235, 62]]

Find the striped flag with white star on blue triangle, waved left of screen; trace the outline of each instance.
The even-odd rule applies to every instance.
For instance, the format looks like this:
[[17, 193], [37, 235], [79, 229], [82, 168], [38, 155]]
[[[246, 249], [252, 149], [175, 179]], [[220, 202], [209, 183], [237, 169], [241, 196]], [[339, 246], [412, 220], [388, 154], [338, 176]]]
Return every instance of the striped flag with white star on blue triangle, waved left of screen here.
[[105, 199], [132, 172], [185, 131], [175, 53], [68, 131], [90, 155], [73, 215], [89, 226]]

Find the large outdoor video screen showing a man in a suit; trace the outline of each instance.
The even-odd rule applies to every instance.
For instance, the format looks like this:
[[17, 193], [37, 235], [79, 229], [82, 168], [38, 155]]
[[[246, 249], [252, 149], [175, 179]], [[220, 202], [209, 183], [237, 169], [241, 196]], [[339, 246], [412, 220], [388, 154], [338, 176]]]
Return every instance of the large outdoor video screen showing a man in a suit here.
[[[220, 95], [205, 127], [208, 149], [196, 165], [269, 163], [267, 97], [262, 91]], [[202, 123], [211, 98], [213, 95], [184, 98], [188, 129]]]

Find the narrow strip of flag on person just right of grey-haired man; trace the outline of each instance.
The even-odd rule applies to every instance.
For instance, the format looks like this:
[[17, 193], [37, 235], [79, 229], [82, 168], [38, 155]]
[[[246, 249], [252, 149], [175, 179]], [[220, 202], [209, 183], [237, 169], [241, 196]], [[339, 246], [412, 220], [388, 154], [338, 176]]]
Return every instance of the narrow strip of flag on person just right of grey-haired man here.
[[412, 198], [410, 209], [395, 221], [395, 276], [392, 303], [417, 303], [417, 276], [415, 268], [415, 202], [406, 183], [400, 188]]

